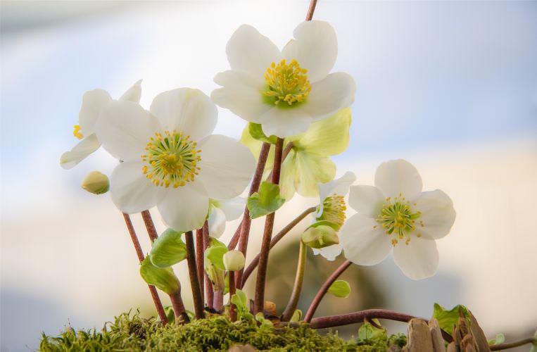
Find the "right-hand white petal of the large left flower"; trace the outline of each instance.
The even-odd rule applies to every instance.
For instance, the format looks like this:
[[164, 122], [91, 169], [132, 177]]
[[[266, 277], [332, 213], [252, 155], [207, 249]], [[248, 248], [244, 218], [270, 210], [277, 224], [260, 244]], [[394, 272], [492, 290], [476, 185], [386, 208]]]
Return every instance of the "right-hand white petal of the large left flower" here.
[[246, 146], [235, 139], [213, 134], [198, 144], [201, 149], [199, 178], [211, 198], [231, 199], [248, 186], [255, 159]]

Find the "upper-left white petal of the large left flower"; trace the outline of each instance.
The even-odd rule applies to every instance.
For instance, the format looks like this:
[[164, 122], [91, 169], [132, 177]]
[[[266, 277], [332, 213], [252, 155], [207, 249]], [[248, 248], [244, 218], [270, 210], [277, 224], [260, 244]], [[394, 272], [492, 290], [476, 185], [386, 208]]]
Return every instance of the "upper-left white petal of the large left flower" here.
[[96, 125], [104, 149], [124, 161], [140, 160], [151, 137], [161, 130], [157, 118], [132, 101], [108, 103]]

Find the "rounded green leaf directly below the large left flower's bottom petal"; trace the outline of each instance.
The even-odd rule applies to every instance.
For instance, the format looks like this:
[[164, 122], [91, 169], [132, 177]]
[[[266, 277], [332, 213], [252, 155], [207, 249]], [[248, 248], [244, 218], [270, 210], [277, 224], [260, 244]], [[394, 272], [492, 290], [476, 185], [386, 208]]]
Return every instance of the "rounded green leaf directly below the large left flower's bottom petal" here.
[[187, 246], [181, 239], [182, 232], [168, 229], [153, 242], [151, 263], [158, 268], [165, 268], [187, 258]]

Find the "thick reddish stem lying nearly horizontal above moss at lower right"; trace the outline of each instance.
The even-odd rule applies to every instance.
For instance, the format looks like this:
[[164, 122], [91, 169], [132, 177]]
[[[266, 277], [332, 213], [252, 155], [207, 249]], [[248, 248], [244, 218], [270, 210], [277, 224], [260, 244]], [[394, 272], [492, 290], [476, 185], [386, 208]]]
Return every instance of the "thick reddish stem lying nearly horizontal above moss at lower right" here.
[[342, 314], [342, 315], [329, 315], [327, 317], [320, 317], [312, 319], [310, 327], [312, 329], [322, 329], [324, 327], [339, 327], [341, 325], [354, 324], [356, 322], [363, 322], [364, 320], [371, 320], [374, 318], [396, 320], [398, 322], [410, 322], [415, 319], [412, 315], [397, 313], [393, 310], [385, 309], [367, 309], [360, 310], [359, 312]]

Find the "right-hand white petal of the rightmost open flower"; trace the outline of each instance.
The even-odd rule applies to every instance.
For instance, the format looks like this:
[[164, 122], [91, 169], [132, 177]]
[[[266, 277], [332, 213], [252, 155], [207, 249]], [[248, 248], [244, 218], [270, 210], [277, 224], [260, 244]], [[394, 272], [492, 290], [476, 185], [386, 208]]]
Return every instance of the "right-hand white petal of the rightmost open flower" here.
[[455, 209], [446, 193], [440, 189], [423, 192], [415, 203], [416, 209], [422, 213], [418, 221], [424, 224], [418, 227], [419, 232], [433, 239], [441, 239], [450, 232], [455, 222]]

